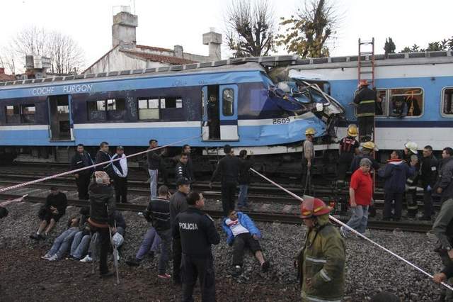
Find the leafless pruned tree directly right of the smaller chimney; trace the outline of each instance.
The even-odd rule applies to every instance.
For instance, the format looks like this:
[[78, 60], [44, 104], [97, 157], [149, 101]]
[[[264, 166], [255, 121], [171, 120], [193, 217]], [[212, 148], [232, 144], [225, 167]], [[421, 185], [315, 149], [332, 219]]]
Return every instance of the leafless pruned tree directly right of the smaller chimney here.
[[231, 2], [226, 13], [226, 45], [234, 57], [269, 55], [275, 46], [274, 12], [268, 0]]

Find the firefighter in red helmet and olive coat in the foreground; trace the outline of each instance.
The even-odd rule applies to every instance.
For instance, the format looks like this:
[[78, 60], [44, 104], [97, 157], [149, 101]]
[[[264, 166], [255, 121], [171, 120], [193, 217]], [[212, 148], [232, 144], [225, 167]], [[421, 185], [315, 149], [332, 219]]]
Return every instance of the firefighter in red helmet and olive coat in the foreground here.
[[302, 301], [341, 301], [345, 290], [345, 242], [319, 198], [304, 196], [302, 219], [308, 227], [304, 247], [294, 261]]

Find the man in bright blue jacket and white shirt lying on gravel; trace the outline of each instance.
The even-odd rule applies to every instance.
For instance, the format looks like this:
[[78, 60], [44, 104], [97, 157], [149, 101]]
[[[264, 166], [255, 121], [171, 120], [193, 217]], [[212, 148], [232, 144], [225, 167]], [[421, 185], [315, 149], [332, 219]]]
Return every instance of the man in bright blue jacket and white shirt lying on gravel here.
[[263, 272], [268, 272], [270, 263], [265, 261], [261, 252], [260, 242], [261, 233], [256, 228], [255, 223], [242, 212], [230, 211], [228, 217], [224, 218], [222, 228], [226, 233], [226, 242], [233, 245], [233, 265], [234, 275], [239, 276], [242, 272], [242, 259], [244, 247], [248, 245], [250, 250], [260, 262]]

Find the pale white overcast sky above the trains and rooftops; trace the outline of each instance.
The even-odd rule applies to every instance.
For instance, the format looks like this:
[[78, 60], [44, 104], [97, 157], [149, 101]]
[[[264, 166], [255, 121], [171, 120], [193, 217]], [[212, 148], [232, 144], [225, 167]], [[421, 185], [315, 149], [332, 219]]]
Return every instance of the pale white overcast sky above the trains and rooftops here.
[[[225, 31], [224, 15], [234, 0], [9, 0], [2, 1], [0, 50], [18, 31], [30, 26], [59, 30], [70, 35], [85, 53], [88, 67], [110, 50], [113, 6], [132, 6], [138, 16], [137, 43], [207, 55], [202, 34], [210, 28]], [[304, 0], [269, 0], [275, 18], [287, 17]], [[331, 0], [340, 22], [329, 41], [331, 56], [357, 55], [357, 39], [376, 40], [376, 53], [383, 53], [386, 37], [396, 51], [414, 43], [453, 36], [451, 0]], [[277, 50], [277, 54], [285, 54]], [[222, 57], [231, 52], [222, 47]]]

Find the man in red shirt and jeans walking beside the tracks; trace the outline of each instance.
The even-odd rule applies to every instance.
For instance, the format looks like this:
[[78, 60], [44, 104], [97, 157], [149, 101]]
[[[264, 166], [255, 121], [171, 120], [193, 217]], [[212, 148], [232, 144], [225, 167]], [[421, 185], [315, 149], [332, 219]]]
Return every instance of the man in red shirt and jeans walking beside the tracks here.
[[[369, 174], [372, 162], [367, 158], [360, 160], [360, 168], [351, 176], [349, 187], [350, 206], [352, 217], [347, 225], [360, 234], [365, 234], [368, 223], [368, 207], [372, 205], [373, 179]], [[340, 234], [347, 238], [350, 231], [344, 227], [340, 228]]]

